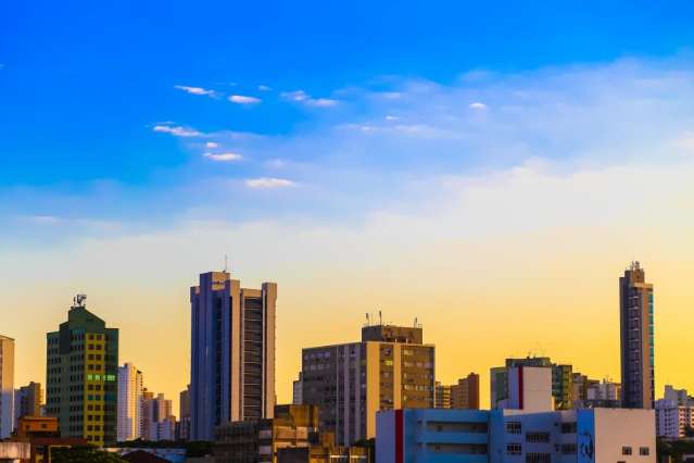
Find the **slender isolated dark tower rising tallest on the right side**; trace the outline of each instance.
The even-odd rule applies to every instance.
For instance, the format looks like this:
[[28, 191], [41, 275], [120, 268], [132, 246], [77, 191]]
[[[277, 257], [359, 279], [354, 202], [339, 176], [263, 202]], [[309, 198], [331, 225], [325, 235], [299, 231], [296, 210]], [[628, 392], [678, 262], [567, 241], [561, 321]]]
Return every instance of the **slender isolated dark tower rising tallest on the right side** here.
[[619, 278], [621, 395], [627, 409], [653, 409], [655, 362], [653, 285], [639, 262]]

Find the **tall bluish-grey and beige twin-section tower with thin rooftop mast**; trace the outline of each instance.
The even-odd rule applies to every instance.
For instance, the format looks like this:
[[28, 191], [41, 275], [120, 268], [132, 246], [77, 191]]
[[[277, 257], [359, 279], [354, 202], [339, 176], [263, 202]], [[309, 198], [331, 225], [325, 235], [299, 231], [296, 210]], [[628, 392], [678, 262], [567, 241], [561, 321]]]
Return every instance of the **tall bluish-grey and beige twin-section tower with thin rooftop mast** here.
[[227, 272], [190, 288], [190, 434], [213, 440], [230, 421], [270, 418], [275, 408], [277, 285], [241, 288]]

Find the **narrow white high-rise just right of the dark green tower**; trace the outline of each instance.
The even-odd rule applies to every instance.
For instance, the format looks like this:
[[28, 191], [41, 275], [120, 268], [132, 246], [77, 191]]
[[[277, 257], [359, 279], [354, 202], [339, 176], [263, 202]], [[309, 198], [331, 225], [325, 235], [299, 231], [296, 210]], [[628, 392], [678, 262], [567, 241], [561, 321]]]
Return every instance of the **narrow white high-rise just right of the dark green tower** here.
[[118, 366], [118, 442], [142, 437], [142, 372], [131, 363]]

